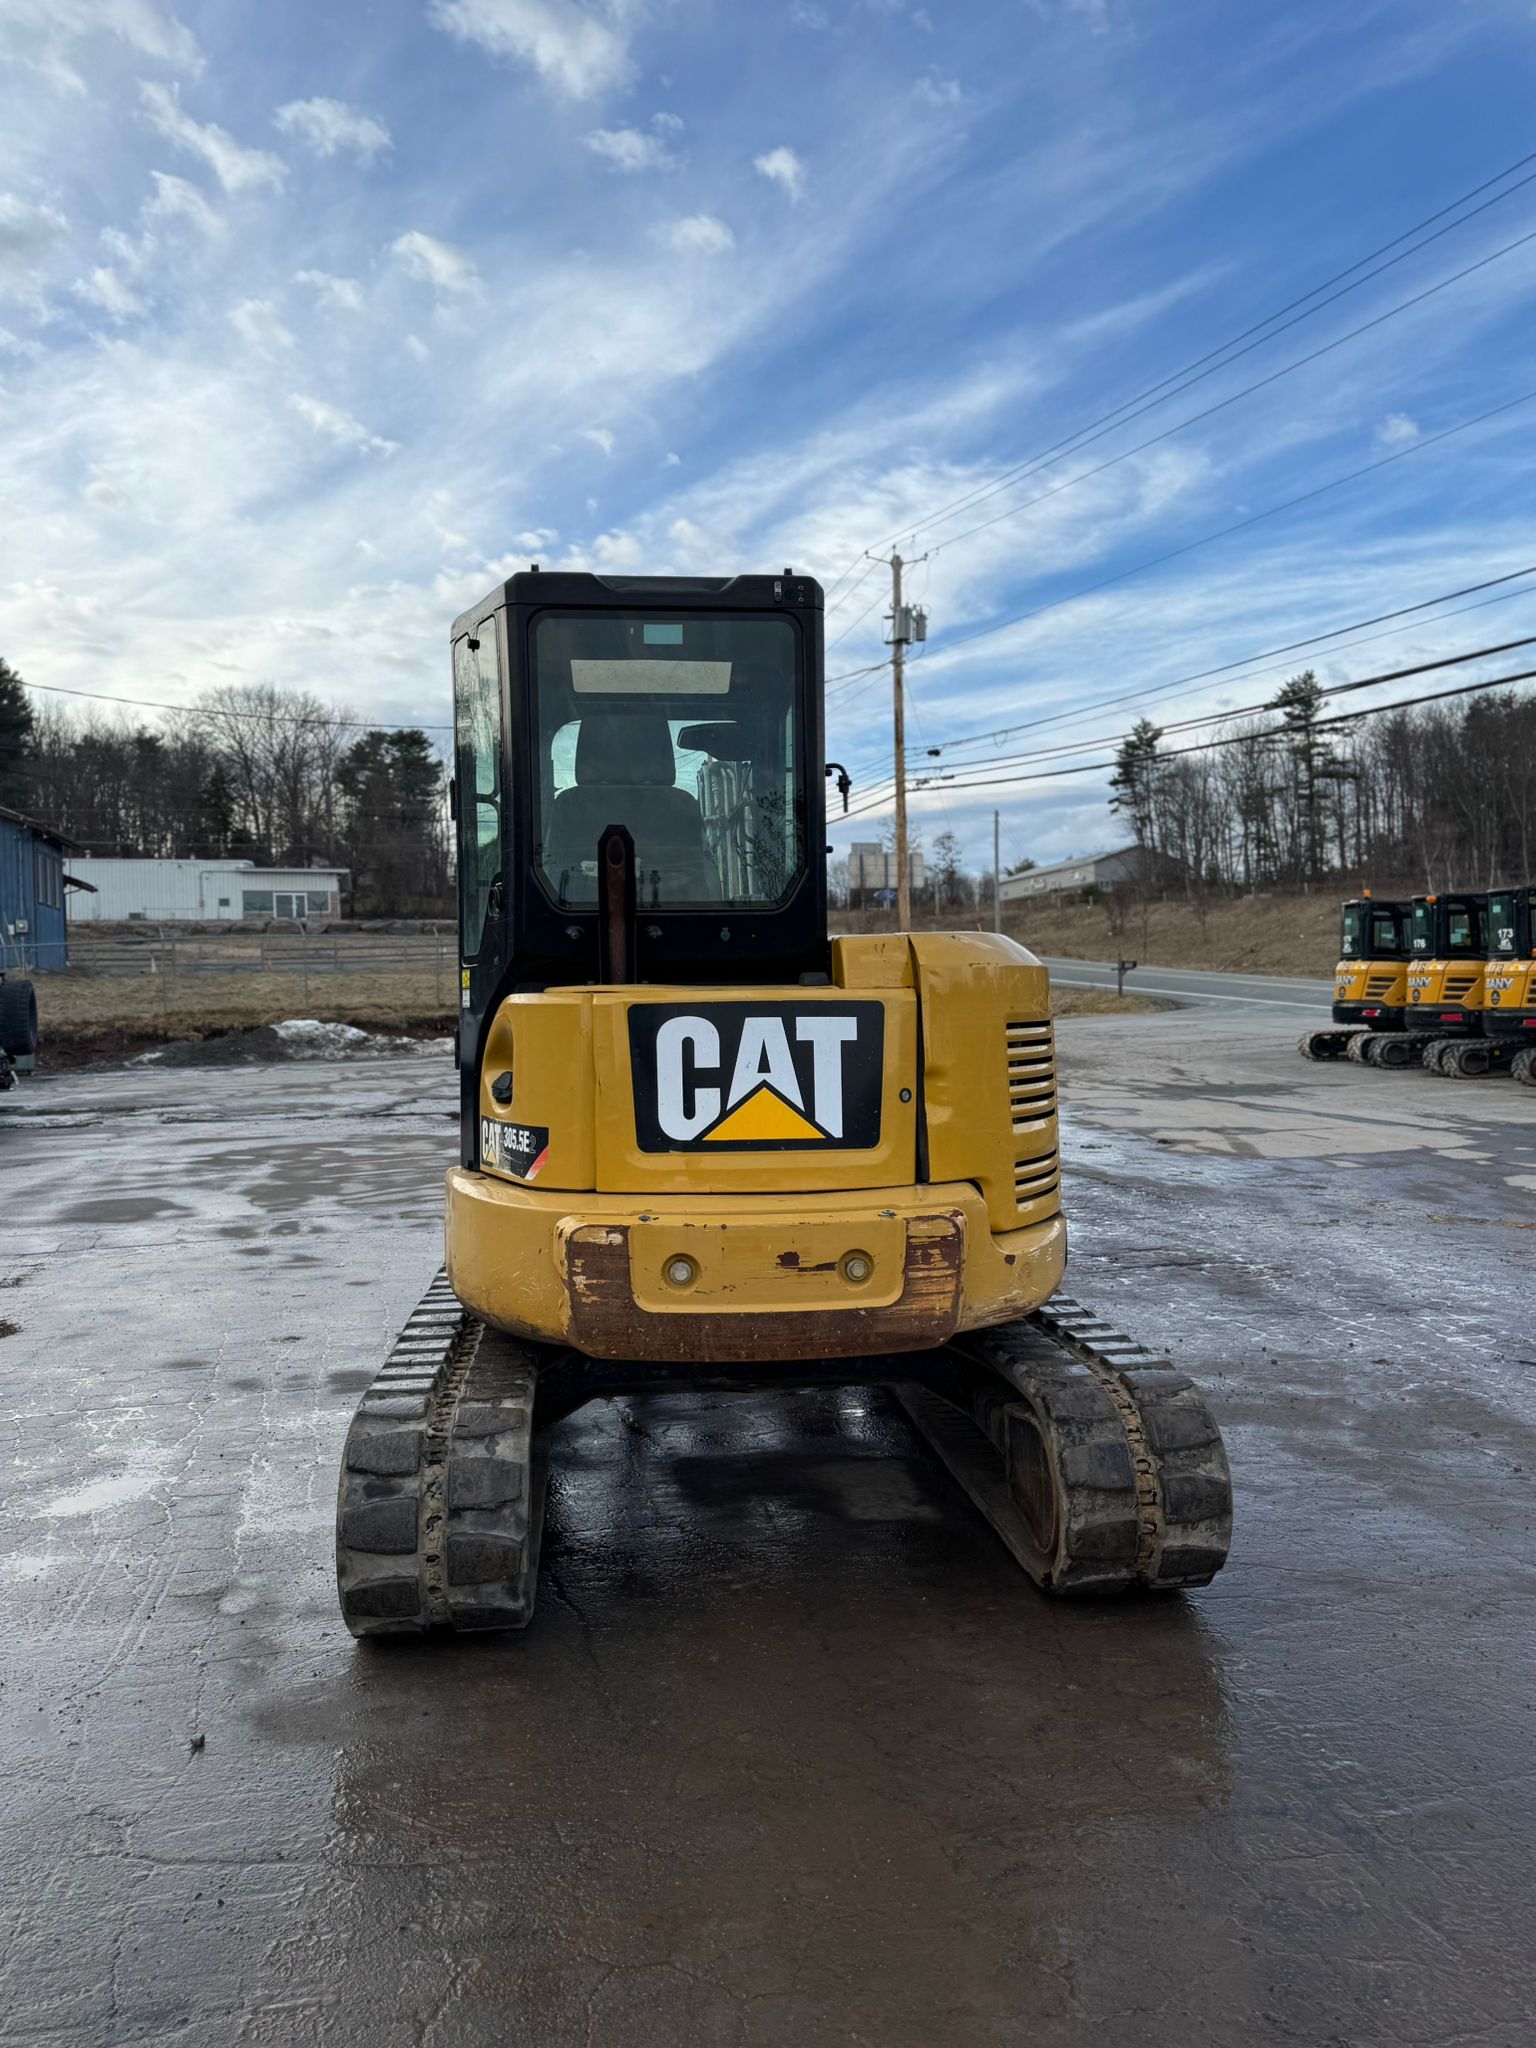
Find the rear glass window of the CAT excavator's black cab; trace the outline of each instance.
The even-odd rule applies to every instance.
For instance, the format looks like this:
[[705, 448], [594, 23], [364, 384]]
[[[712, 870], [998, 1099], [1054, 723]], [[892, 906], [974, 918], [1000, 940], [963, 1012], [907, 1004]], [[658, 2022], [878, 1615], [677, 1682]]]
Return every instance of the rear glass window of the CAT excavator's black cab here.
[[547, 612], [532, 627], [535, 864], [594, 903], [608, 825], [641, 909], [782, 903], [805, 872], [799, 635], [788, 618]]

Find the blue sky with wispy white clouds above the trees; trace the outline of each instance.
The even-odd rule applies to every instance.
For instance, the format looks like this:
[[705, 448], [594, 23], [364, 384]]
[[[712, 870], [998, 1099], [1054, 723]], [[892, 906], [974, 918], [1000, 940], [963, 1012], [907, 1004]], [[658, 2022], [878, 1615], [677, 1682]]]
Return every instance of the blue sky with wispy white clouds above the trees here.
[[0, 0], [0, 653], [442, 735], [528, 561], [793, 563], [844, 850], [899, 547], [928, 844], [1120, 844], [1104, 770], [995, 778], [1536, 635], [1253, 659], [1536, 563], [1534, 84], [1530, 0]]

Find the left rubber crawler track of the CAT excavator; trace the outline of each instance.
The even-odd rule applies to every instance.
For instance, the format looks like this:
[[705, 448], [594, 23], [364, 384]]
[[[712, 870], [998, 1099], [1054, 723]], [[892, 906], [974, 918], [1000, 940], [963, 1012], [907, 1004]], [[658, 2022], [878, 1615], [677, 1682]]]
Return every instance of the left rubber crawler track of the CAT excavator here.
[[539, 1358], [469, 1317], [442, 1274], [412, 1311], [342, 1454], [336, 1587], [354, 1636], [528, 1622]]

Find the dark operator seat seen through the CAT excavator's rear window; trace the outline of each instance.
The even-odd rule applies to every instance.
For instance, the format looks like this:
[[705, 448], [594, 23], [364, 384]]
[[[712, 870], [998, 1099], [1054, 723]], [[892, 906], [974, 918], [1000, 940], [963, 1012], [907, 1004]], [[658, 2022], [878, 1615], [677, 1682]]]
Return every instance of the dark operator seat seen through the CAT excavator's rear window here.
[[565, 903], [598, 895], [598, 838], [627, 825], [635, 840], [635, 899], [719, 903], [721, 879], [705, 842], [698, 799], [676, 784], [668, 721], [655, 713], [588, 713], [575, 735], [575, 786], [557, 793], [545, 834], [545, 874]]

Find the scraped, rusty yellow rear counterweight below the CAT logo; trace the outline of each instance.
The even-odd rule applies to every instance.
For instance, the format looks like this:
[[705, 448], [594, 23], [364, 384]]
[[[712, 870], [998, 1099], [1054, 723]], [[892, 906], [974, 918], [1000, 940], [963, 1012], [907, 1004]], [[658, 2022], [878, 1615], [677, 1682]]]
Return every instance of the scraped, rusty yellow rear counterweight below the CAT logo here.
[[[844, 1262], [862, 1253], [868, 1278]], [[692, 1280], [668, 1268], [686, 1260]], [[993, 1233], [969, 1182], [821, 1196], [602, 1196], [449, 1174], [459, 1300], [592, 1358], [752, 1362], [928, 1350], [1030, 1315], [1061, 1284], [1063, 1217]]]

